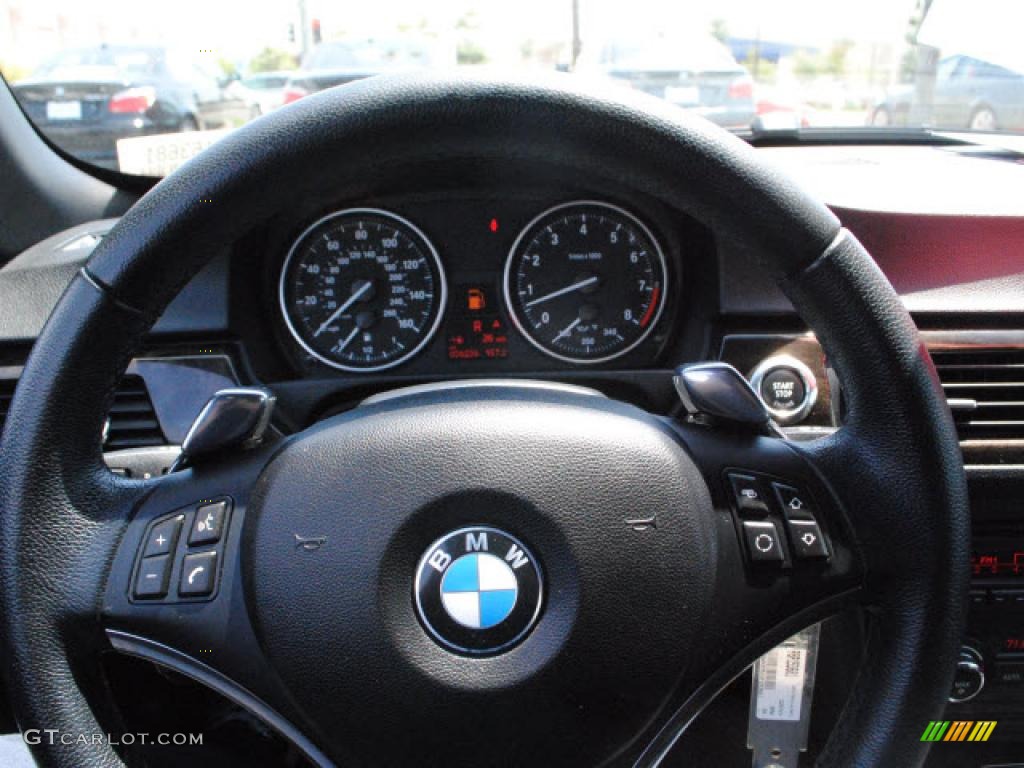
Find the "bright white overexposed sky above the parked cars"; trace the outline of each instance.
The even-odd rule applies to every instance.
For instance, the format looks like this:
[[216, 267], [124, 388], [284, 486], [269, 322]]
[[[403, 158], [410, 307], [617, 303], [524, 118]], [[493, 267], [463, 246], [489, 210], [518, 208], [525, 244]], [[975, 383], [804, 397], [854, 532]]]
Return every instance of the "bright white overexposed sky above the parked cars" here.
[[[941, 1], [941, 0], [940, 0]], [[955, 0], [959, 2], [959, 0]], [[966, 1], [966, 0], [965, 0]], [[0, 0], [29, 20], [54, 14], [97, 35], [135, 32], [175, 45], [214, 48], [225, 57], [248, 57], [264, 45], [287, 45], [290, 23], [303, 0]], [[431, 28], [452, 30], [473, 11], [474, 36], [485, 47], [518, 51], [523, 40], [568, 40], [571, 0], [304, 0], [307, 17], [325, 32], [382, 35], [425, 17]], [[893, 42], [902, 39], [913, 0], [580, 0], [585, 44], [609, 33], [707, 34], [724, 19], [734, 37], [827, 47], [839, 38]], [[133, 35], [134, 36], [134, 35]]]

